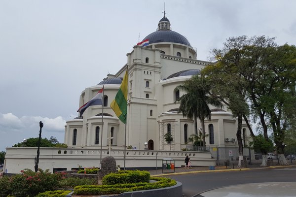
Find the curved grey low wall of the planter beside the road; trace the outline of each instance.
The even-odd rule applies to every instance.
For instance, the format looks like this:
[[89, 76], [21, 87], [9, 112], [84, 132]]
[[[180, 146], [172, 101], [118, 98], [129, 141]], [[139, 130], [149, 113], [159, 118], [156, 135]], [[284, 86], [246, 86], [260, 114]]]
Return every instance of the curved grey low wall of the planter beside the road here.
[[160, 188], [155, 190], [142, 190], [135, 192], [125, 192], [114, 196], [101, 196], [101, 197], [182, 197], [183, 186], [181, 182], [177, 181], [177, 184], [167, 188]]

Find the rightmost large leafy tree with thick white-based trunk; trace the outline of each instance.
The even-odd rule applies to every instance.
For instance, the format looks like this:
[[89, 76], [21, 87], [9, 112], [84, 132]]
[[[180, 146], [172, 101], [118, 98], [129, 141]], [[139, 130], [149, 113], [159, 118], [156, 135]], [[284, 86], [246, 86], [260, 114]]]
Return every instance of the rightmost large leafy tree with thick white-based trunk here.
[[[263, 38], [258, 39], [259, 43], [264, 42]], [[273, 132], [279, 163], [286, 165], [284, 139], [291, 118], [290, 106], [296, 102], [296, 47], [288, 44], [266, 46], [264, 50], [260, 47], [261, 44], [249, 47], [250, 53], [259, 54], [259, 57], [250, 61], [245, 76], [248, 80], [246, 87], [252, 109], [264, 127], [264, 137], [269, 127]]]

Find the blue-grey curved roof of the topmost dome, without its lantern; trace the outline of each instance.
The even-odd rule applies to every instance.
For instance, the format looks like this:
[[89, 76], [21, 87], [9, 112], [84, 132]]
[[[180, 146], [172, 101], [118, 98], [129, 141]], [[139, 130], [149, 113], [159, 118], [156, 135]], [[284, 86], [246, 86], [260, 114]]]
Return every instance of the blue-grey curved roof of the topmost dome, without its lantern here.
[[191, 47], [187, 38], [185, 38], [180, 33], [177, 33], [171, 30], [158, 30], [156, 32], [153, 32], [147, 35], [143, 39], [143, 41], [146, 39], [149, 39], [149, 44], [158, 43], [158, 42], [174, 42], [174, 43], [185, 44]]

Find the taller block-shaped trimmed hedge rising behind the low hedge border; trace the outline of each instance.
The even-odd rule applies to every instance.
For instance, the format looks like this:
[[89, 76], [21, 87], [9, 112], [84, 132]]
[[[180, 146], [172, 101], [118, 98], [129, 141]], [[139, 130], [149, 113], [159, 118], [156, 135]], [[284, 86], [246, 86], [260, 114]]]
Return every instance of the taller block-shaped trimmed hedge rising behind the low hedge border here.
[[140, 170], [126, 170], [119, 171], [119, 173], [110, 173], [103, 177], [103, 185], [115, 185], [126, 183], [148, 183], [150, 180], [150, 173], [148, 171]]

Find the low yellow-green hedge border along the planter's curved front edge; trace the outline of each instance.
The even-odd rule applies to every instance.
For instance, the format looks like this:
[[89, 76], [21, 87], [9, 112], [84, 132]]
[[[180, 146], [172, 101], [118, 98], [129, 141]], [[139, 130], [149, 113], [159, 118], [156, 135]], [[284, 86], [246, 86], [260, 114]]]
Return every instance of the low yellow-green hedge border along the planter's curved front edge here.
[[154, 183], [126, 183], [115, 185], [85, 185], [76, 186], [74, 194], [77, 195], [108, 195], [108, 194], [121, 194], [124, 192], [133, 192], [140, 190], [152, 190], [159, 188], [166, 188], [176, 185], [177, 182], [170, 178], [153, 177], [151, 180], [158, 182]]

